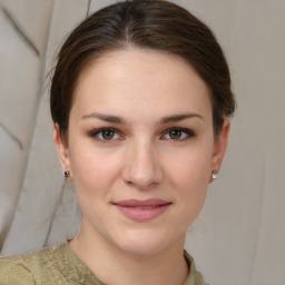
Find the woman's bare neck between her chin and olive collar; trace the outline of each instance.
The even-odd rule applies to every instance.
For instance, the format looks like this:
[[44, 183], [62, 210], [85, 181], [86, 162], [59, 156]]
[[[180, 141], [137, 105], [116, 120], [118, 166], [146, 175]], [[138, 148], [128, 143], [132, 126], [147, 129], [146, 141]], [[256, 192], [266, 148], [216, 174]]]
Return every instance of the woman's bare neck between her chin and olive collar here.
[[105, 284], [181, 285], [187, 278], [188, 266], [184, 258], [185, 236], [167, 248], [142, 255], [124, 252], [100, 235], [90, 235], [86, 232], [82, 223], [80, 234], [69, 245]]

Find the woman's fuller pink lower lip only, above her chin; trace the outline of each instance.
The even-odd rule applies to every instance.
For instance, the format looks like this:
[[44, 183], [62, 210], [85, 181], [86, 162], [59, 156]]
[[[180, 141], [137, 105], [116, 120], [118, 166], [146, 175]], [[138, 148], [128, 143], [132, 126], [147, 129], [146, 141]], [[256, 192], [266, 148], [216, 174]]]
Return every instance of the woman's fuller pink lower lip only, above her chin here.
[[120, 205], [116, 205], [116, 207], [128, 218], [138, 222], [147, 222], [154, 219], [161, 214], [164, 214], [170, 204], [156, 206], [154, 208], [138, 208], [138, 207], [124, 207]]

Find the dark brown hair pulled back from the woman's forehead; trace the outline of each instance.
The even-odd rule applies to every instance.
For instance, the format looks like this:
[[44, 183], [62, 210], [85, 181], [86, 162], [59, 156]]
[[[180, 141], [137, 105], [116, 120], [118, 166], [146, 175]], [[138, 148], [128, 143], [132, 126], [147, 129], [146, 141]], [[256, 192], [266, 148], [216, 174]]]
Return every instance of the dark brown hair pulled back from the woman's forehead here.
[[229, 69], [213, 32], [171, 2], [127, 0], [85, 19], [59, 51], [51, 80], [50, 110], [65, 140], [80, 72], [106, 52], [129, 48], [157, 50], [189, 62], [212, 91], [214, 132], [219, 134], [224, 119], [234, 114], [235, 99]]

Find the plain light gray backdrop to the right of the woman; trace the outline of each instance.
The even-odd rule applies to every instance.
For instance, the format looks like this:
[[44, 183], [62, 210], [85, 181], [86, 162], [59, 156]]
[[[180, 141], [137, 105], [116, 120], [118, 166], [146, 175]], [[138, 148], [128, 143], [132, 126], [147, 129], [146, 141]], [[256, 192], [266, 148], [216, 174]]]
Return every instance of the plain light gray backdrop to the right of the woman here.
[[[285, 276], [285, 2], [184, 3], [220, 40], [238, 101], [220, 178], [209, 188], [197, 223], [200, 230], [194, 230], [193, 238], [189, 235], [189, 248], [213, 284], [281, 285]], [[227, 274], [213, 271], [217, 264]]]

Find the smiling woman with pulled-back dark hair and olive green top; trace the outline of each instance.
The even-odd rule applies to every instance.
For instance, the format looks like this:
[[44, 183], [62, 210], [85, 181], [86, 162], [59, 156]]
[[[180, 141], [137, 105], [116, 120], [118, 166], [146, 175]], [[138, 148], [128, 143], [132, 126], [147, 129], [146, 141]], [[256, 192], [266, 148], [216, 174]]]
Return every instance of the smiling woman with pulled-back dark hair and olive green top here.
[[50, 108], [81, 229], [60, 247], [2, 258], [0, 284], [206, 284], [184, 242], [235, 108], [210, 30], [166, 1], [105, 8], [63, 43]]

